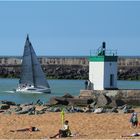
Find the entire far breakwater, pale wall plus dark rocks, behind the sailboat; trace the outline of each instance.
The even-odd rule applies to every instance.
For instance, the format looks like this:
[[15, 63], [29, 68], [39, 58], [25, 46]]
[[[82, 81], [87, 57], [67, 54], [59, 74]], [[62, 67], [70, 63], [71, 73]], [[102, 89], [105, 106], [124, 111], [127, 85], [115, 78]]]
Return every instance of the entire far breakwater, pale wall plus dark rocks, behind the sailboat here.
[[[86, 56], [41, 56], [38, 59], [50, 79], [88, 79]], [[18, 78], [21, 62], [22, 57], [1, 56], [0, 76]], [[140, 57], [119, 57], [118, 79], [140, 80]]]

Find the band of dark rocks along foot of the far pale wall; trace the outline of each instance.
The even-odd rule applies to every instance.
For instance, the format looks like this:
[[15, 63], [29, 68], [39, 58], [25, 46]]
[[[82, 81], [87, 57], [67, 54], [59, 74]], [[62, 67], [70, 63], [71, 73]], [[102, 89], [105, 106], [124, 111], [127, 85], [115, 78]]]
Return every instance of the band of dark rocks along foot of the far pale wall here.
[[[50, 79], [88, 79], [89, 67], [83, 65], [42, 65]], [[19, 78], [21, 66], [0, 66], [0, 77]], [[118, 67], [119, 80], [140, 80], [140, 67]]]

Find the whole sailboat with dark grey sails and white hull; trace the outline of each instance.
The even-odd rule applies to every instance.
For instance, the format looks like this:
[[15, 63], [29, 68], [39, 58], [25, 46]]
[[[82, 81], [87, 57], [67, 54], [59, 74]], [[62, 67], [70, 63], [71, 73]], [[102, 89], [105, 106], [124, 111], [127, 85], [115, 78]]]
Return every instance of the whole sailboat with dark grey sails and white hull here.
[[51, 93], [49, 83], [27, 35], [21, 66], [21, 76], [16, 92]]

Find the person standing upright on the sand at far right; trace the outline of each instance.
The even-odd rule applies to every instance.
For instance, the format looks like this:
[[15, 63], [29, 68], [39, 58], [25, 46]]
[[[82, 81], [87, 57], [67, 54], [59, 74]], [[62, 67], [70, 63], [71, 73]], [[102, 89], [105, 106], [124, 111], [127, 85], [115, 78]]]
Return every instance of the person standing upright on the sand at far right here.
[[136, 112], [133, 112], [130, 117], [131, 127], [136, 128], [138, 126], [138, 116]]

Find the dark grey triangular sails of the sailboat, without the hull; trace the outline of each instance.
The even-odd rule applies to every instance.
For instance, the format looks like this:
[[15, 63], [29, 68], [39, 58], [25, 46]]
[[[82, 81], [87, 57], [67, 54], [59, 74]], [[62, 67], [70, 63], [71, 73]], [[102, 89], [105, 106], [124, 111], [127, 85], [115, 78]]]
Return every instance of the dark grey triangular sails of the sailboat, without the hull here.
[[34, 85], [34, 87], [50, 87], [28, 35], [24, 47], [20, 84]]

